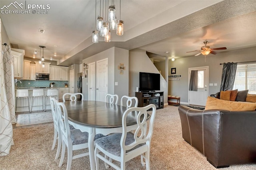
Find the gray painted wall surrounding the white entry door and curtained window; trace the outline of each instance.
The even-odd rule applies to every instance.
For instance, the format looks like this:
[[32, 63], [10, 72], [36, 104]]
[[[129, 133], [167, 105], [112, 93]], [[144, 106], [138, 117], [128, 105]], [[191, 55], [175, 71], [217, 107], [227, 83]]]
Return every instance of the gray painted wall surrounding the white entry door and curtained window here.
[[[168, 74], [171, 68], [176, 68], [176, 74], [181, 74], [181, 80], [168, 81], [168, 95], [180, 96], [180, 101], [188, 103], [188, 68], [209, 66], [209, 83], [217, 83], [217, 86], [209, 86], [210, 94], [220, 90], [222, 66], [220, 63], [256, 61], [256, 47], [224, 51], [216, 55], [187, 57], [183, 59], [169, 60]], [[164, 66], [164, 62], [161, 62]], [[159, 63], [160, 64], [160, 63]]]

